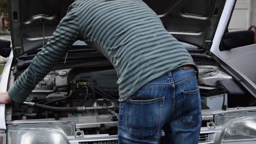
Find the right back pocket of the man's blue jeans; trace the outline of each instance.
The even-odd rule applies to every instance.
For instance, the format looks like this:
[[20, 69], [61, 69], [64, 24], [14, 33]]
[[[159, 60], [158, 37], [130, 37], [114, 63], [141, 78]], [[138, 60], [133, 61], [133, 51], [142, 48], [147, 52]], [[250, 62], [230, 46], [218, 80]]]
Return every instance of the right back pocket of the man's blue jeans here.
[[183, 91], [184, 95], [184, 117], [183, 122], [191, 128], [201, 124], [201, 99], [199, 88], [194, 91]]

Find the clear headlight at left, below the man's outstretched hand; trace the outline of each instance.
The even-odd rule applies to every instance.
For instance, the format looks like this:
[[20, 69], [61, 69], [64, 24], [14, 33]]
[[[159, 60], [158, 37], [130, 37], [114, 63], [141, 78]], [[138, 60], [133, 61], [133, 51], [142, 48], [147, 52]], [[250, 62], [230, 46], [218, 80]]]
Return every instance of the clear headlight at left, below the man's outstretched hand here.
[[67, 135], [74, 135], [74, 123], [8, 125], [7, 142], [14, 144], [69, 143]]

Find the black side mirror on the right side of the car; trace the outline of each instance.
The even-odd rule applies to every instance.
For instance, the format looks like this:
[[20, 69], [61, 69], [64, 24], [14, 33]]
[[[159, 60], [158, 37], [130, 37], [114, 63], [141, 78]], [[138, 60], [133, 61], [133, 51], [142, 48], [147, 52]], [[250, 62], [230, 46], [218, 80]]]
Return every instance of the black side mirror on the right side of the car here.
[[246, 46], [255, 44], [254, 32], [248, 31], [237, 31], [229, 32], [223, 36], [222, 43], [220, 45], [220, 51], [231, 50], [236, 47]]

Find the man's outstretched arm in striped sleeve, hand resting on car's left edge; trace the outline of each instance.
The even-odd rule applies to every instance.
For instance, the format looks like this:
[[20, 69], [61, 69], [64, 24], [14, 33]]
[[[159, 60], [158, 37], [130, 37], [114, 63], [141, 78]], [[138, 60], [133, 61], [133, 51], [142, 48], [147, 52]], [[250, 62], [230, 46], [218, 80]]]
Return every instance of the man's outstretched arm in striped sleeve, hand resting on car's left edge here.
[[[79, 38], [79, 29], [76, 9], [73, 8], [63, 17], [53, 38], [49, 39], [43, 50], [32, 59], [30, 67], [18, 77], [14, 87], [9, 89], [9, 97], [16, 103], [25, 101], [38, 82], [49, 73], [55, 63], [60, 61], [68, 48]], [[0, 94], [0, 97], [7, 98], [8, 95]], [[0, 99], [0, 103], [5, 101]]]

